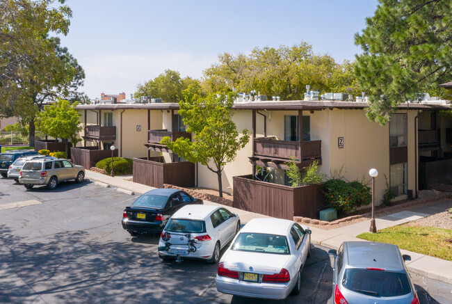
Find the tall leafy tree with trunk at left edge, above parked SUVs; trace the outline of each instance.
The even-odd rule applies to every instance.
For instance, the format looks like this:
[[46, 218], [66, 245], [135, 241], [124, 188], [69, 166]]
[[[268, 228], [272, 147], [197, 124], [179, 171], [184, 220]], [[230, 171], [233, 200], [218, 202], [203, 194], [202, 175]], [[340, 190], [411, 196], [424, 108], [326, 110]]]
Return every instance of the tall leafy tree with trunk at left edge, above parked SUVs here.
[[42, 104], [72, 95], [85, 78], [59, 38], [49, 38], [66, 35], [72, 17], [68, 6], [56, 3], [64, 0], [0, 0], [0, 111], [29, 122], [30, 145]]

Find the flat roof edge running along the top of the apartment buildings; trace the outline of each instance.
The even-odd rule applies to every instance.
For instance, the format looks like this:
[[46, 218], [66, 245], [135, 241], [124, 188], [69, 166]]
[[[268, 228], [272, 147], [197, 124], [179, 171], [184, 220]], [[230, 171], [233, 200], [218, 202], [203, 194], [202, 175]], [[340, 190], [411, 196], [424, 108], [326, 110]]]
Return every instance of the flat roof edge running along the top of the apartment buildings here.
[[[234, 110], [307, 110], [316, 111], [324, 109], [360, 110], [369, 106], [366, 102], [305, 102], [302, 100], [282, 102], [238, 102], [232, 106]], [[150, 110], [178, 110], [179, 104], [163, 102], [154, 104], [79, 104], [76, 109], [87, 110], [116, 110], [116, 109], [150, 109]], [[399, 110], [449, 110], [451, 106], [442, 104], [403, 103]]]

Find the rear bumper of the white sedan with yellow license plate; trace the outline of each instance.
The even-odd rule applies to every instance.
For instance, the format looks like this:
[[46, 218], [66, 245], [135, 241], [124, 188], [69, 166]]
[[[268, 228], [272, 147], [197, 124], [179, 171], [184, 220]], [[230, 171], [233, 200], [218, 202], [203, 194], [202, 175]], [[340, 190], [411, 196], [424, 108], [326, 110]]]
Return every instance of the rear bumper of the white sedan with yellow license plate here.
[[282, 300], [287, 298], [293, 289], [292, 281], [282, 283], [244, 282], [233, 278], [216, 276], [216, 289], [223, 294], [246, 296], [249, 298], [268, 298]]

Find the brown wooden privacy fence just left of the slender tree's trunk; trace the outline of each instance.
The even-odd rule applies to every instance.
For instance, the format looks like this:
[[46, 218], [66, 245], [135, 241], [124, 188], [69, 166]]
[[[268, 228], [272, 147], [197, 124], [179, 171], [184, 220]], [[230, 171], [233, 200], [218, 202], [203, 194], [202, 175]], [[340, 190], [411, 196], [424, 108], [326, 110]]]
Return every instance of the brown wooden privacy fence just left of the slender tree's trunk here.
[[163, 184], [181, 187], [195, 186], [195, 164], [189, 161], [165, 163], [163, 157], [134, 159], [134, 182], [156, 188]]

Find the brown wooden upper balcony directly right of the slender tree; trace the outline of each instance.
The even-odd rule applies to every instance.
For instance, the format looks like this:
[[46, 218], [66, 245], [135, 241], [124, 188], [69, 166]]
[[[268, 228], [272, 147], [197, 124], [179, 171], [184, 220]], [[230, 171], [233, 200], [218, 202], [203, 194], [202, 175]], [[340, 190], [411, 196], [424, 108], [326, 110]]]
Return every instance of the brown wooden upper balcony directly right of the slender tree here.
[[[276, 141], [270, 138], [255, 138], [254, 157], [251, 161], [258, 166], [275, 166], [286, 168], [286, 163], [291, 158], [295, 159], [300, 166], [309, 166], [314, 160], [321, 163], [322, 141]], [[274, 165], [272, 165], [272, 163]]]

